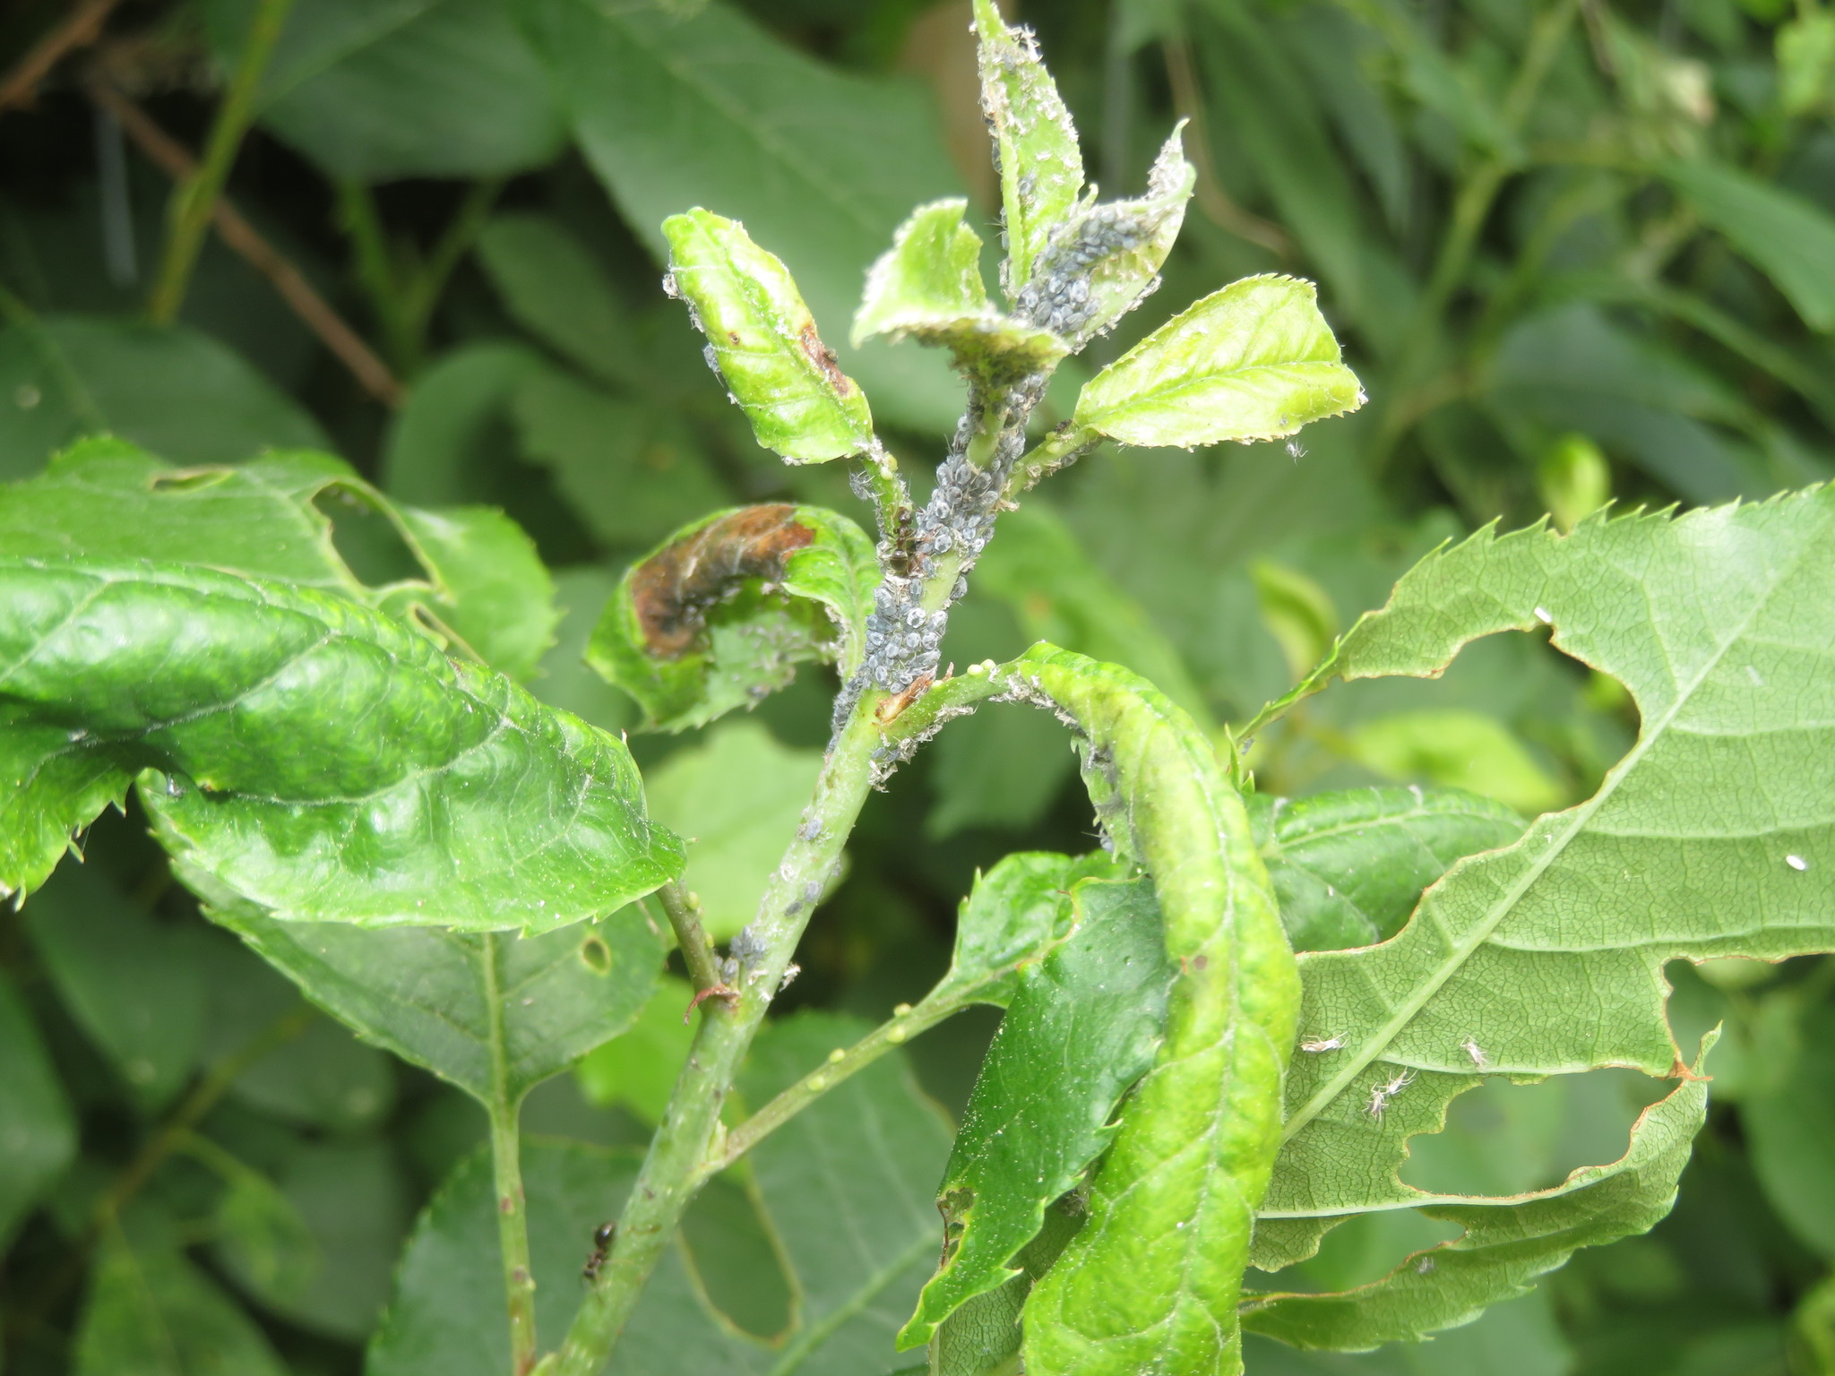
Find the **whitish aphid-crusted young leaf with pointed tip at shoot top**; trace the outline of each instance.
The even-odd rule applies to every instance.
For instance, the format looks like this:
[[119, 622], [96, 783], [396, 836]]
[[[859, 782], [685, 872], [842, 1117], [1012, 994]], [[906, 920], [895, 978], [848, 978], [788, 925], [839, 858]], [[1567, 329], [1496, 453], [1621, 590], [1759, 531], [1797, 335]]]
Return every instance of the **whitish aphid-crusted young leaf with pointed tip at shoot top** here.
[[1031, 279], [1013, 294], [1015, 316], [1083, 349], [1160, 284], [1160, 264], [1173, 251], [1198, 183], [1185, 161], [1182, 128], [1154, 158], [1145, 196], [1084, 202], [1051, 229]]

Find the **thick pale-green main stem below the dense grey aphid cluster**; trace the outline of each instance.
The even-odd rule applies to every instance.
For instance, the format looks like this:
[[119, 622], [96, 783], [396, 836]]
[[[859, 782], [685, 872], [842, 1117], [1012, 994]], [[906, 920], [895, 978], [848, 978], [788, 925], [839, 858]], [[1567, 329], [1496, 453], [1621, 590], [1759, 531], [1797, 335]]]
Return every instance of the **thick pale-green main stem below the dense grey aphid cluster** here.
[[740, 974], [738, 998], [703, 1004], [688, 1060], [618, 1216], [611, 1255], [582, 1301], [567, 1341], [538, 1369], [541, 1376], [598, 1376], [705, 1178], [706, 1163], [725, 1156], [716, 1141], [721, 1104], [872, 791], [881, 701], [884, 694], [862, 694], [829, 743], [806, 822], [773, 871], [752, 923], [765, 956]]

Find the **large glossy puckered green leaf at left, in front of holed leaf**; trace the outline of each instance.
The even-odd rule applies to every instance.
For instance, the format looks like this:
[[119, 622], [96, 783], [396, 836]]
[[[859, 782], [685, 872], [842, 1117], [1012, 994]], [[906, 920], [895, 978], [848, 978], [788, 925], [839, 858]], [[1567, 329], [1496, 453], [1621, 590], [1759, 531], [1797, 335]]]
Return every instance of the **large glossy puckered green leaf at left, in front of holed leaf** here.
[[0, 882], [125, 794], [286, 919], [547, 930], [681, 868], [624, 745], [407, 626], [198, 567], [0, 560]]

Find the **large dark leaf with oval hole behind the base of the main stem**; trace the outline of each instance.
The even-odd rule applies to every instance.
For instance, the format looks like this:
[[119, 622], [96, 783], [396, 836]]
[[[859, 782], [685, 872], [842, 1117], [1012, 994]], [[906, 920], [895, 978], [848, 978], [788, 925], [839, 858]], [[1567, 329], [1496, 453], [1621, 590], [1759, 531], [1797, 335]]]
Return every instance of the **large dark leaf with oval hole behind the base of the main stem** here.
[[[763, 1103], [866, 1027], [800, 1015], [767, 1027], [740, 1092]], [[749, 1156], [767, 1229], [782, 1244], [796, 1323], [778, 1343], [752, 1339], [719, 1315], [672, 1251], [644, 1290], [613, 1359], [629, 1376], [684, 1370], [738, 1376], [881, 1376], [905, 1361], [892, 1334], [936, 1253], [930, 1183], [949, 1130], [888, 1057], [835, 1086]], [[536, 1319], [558, 1336], [580, 1286], [567, 1281], [591, 1251], [591, 1231], [615, 1218], [637, 1158], [574, 1143], [534, 1141], [523, 1154]], [[716, 1224], [710, 1220], [710, 1227]], [[395, 1303], [369, 1352], [369, 1376], [451, 1376], [508, 1365], [503, 1275], [490, 1163], [472, 1158], [448, 1180], [402, 1260]], [[717, 1246], [703, 1233], [695, 1248]], [[773, 1277], [776, 1281], [776, 1277]], [[484, 1354], [483, 1358], [479, 1354]]]

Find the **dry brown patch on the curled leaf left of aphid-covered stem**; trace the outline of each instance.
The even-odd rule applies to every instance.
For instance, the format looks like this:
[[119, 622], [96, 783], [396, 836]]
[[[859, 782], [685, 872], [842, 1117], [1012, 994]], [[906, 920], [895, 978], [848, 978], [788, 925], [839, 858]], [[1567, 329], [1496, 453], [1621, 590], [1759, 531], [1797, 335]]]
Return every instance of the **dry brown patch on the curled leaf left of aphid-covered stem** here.
[[747, 578], [784, 580], [784, 563], [815, 539], [789, 503], [745, 506], [651, 554], [631, 576], [631, 605], [644, 648], [657, 659], [686, 655], [708, 609]]

